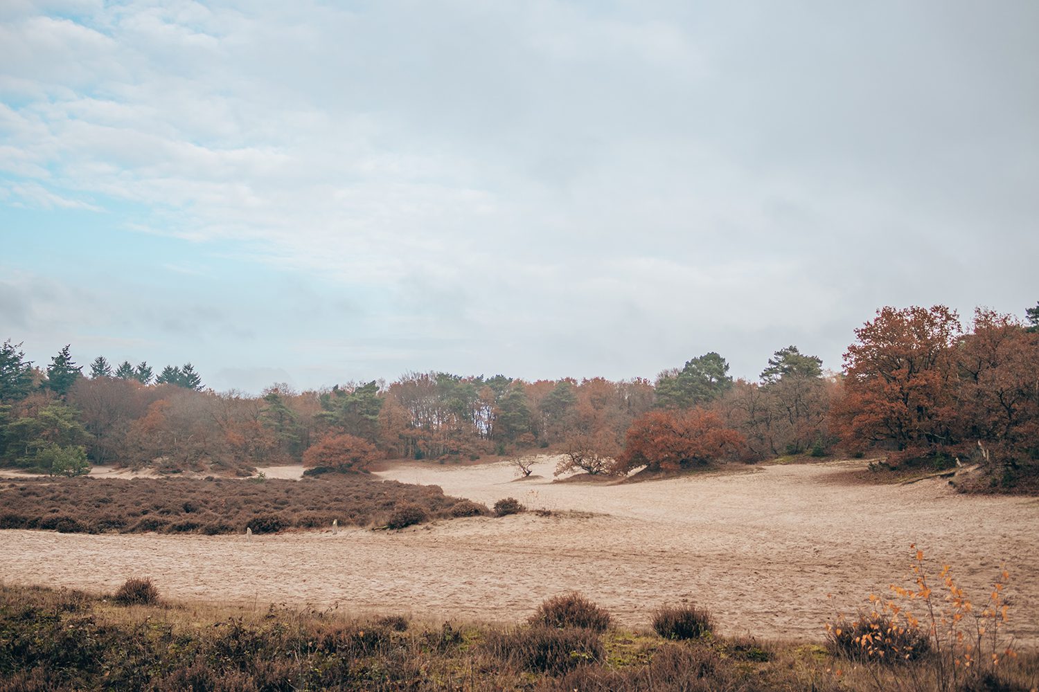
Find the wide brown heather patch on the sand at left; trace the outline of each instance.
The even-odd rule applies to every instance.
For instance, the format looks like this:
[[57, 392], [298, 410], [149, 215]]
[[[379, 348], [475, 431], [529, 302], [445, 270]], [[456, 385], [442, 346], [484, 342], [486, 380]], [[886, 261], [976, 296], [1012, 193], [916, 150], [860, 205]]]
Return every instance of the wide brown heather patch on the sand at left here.
[[396, 508], [450, 518], [459, 498], [437, 486], [327, 474], [302, 480], [31, 478], [0, 483], [0, 529], [65, 533], [271, 533], [384, 525]]

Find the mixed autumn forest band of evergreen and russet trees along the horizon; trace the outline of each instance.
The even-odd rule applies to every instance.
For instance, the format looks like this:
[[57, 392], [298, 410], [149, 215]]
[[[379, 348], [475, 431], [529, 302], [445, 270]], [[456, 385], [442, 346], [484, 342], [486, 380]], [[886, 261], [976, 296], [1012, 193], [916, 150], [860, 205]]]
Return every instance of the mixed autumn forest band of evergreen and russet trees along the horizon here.
[[190, 362], [156, 376], [99, 356], [84, 372], [71, 345], [46, 367], [22, 348], [0, 348], [0, 464], [55, 475], [363, 471], [541, 450], [562, 455], [560, 473], [623, 475], [846, 453], [884, 468], [979, 463], [991, 489], [1013, 491], [1039, 467], [1039, 305], [1023, 321], [979, 308], [965, 325], [940, 305], [884, 307], [855, 330], [842, 371], [788, 345], [754, 382], [711, 352], [655, 381], [407, 372], [248, 396], [206, 388]]

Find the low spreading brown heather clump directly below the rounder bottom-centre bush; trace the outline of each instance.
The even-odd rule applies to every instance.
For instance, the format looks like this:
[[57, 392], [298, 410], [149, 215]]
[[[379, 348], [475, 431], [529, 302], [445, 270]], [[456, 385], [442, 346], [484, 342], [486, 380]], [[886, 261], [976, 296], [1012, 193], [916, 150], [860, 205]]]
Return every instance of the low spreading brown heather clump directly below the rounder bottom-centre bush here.
[[492, 656], [524, 670], [559, 675], [603, 658], [598, 634], [580, 628], [530, 627], [492, 632], [486, 643]]

